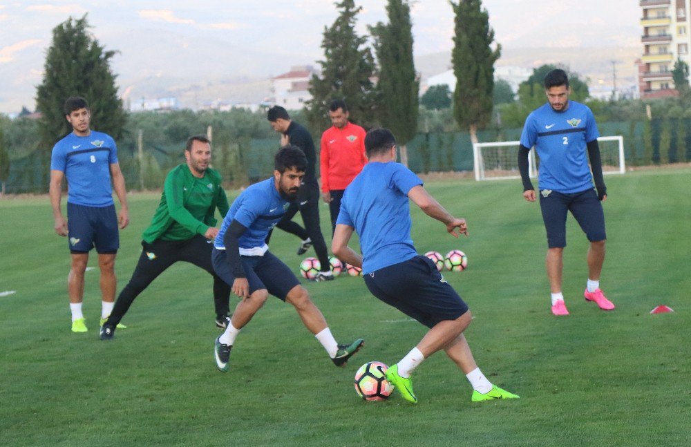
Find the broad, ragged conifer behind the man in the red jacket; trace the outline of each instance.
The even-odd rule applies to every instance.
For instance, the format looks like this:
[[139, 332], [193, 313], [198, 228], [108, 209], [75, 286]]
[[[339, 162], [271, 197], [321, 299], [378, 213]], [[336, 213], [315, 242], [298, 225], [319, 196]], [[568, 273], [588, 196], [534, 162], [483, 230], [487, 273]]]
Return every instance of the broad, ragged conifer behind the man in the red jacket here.
[[345, 99], [352, 120], [358, 124], [371, 125], [374, 117], [374, 57], [366, 46], [367, 37], [358, 36], [354, 29], [362, 8], [356, 8], [354, 0], [335, 4], [341, 12], [332, 26], [324, 28], [321, 77], [312, 76], [312, 99], [306, 105], [307, 120], [319, 132], [330, 126], [328, 106], [333, 99]]

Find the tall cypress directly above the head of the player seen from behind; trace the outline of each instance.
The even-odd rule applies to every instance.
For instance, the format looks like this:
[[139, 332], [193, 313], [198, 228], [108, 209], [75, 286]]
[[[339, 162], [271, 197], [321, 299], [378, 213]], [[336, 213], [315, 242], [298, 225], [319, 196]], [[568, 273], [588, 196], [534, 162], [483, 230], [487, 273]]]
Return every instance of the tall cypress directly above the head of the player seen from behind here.
[[379, 62], [377, 115], [400, 143], [401, 162], [408, 164], [406, 143], [417, 133], [419, 81], [413, 62], [413, 23], [407, 0], [389, 0], [389, 23], [371, 27]]

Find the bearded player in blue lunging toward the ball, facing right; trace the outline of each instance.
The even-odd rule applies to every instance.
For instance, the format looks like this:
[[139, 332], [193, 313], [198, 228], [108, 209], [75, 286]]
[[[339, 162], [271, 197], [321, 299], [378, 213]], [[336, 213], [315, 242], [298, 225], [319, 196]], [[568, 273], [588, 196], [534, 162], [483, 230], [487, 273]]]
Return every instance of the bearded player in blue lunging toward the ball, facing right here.
[[307, 330], [323, 345], [337, 366], [345, 365], [363, 339], [339, 345], [324, 316], [290, 267], [265, 243], [267, 234], [296, 200], [307, 159], [297, 146], [284, 146], [274, 158], [274, 176], [240, 193], [223, 219], [211, 259], [216, 274], [241, 298], [227, 329], [216, 339], [216, 366], [226, 372], [230, 350], [240, 330], [261, 309], [269, 294], [295, 307]]

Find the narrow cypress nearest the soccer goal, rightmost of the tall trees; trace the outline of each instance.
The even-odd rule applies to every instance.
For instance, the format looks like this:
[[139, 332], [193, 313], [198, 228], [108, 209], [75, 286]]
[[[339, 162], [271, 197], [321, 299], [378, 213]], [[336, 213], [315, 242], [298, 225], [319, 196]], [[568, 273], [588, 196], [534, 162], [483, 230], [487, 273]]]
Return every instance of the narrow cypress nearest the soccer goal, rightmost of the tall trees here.
[[455, 13], [454, 48], [451, 52], [456, 90], [453, 93], [453, 115], [460, 128], [468, 128], [471, 141], [477, 142], [477, 130], [491, 120], [494, 62], [502, 46], [492, 50], [494, 30], [480, 0], [449, 1]]

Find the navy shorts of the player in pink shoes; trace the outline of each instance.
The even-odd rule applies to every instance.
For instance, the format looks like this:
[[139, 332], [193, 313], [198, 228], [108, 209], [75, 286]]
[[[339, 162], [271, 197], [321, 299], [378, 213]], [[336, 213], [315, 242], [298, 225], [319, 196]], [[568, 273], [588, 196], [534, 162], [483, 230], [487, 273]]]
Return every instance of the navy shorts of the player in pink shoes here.
[[566, 247], [567, 211], [571, 211], [574, 215], [589, 241], [597, 242], [607, 239], [605, 213], [595, 189], [571, 194], [551, 191], [546, 195], [547, 191], [549, 190], [540, 191], [540, 209], [542, 220], [545, 221], [545, 229], [547, 229], [549, 248]]

